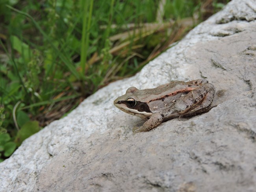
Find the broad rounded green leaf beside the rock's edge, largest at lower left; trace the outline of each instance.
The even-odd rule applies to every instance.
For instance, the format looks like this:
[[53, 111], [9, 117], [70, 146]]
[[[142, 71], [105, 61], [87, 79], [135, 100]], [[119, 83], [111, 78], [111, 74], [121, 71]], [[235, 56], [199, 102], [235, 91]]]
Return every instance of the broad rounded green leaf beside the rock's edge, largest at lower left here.
[[26, 122], [18, 131], [14, 142], [17, 144], [17, 146], [20, 146], [20, 144], [31, 135], [37, 133], [40, 131], [39, 123], [38, 121], [28, 121]]

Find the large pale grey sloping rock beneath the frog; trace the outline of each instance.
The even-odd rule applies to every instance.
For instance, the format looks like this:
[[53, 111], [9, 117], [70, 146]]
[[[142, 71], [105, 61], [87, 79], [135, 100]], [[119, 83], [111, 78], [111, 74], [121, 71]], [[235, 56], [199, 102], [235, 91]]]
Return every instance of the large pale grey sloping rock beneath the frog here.
[[[206, 78], [208, 113], [132, 134], [113, 100], [128, 87]], [[254, 192], [256, 2], [233, 0], [136, 76], [111, 83], [0, 163], [0, 191]]]

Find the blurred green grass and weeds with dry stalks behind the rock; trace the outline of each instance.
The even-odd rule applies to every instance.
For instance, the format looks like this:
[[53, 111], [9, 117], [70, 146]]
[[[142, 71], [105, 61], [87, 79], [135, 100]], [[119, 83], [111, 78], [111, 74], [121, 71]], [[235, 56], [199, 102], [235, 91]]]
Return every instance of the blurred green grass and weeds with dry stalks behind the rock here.
[[0, 2], [0, 161], [131, 76], [227, 0]]

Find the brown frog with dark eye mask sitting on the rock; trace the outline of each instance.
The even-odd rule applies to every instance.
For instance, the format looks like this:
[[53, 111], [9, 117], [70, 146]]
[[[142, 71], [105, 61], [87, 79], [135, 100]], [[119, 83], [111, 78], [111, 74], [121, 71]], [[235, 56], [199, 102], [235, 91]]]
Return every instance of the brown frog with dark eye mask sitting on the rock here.
[[195, 116], [210, 111], [215, 87], [206, 79], [171, 81], [152, 89], [130, 87], [114, 101], [115, 107], [146, 122], [133, 133], [150, 131], [173, 118]]

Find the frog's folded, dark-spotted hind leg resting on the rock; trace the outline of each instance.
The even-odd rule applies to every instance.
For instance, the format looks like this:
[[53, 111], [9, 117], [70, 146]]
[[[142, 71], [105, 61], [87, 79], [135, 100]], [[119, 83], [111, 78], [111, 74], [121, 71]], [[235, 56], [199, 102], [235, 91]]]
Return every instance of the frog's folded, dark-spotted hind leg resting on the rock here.
[[184, 115], [204, 113], [210, 109], [214, 94], [215, 87], [211, 83], [204, 84], [177, 100], [175, 109]]

